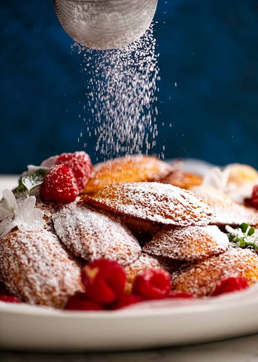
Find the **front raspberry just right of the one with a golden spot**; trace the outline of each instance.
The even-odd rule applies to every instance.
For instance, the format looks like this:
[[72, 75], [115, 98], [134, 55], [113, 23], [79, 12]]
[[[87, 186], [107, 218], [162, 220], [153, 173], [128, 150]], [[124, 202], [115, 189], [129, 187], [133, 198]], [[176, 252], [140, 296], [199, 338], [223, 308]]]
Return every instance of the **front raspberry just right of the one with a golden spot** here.
[[133, 292], [146, 299], [162, 299], [168, 296], [170, 276], [162, 269], [148, 269], [137, 275]]

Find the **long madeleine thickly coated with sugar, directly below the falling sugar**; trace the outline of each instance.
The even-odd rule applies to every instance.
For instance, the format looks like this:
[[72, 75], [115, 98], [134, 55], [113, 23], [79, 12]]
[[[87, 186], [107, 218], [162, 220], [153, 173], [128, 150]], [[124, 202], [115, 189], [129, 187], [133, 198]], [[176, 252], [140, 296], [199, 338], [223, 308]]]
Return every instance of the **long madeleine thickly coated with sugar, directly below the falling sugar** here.
[[201, 226], [213, 218], [211, 208], [193, 193], [158, 182], [106, 186], [93, 195], [83, 195], [82, 200], [119, 215], [160, 224]]

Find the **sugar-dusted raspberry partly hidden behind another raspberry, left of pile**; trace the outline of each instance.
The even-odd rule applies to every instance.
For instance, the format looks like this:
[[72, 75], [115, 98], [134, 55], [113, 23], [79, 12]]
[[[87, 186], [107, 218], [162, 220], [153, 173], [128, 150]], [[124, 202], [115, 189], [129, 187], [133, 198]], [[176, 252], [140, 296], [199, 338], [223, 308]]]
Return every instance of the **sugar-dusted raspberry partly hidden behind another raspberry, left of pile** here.
[[62, 153], [58, 157], [56, 164], [65, 164], [66, 166], [70, 167], [70, 169], [72, 169], [74, 177], [76, 178], [79, 192], [82, 192], [84, 186], [89, 180], [91, 173], [92, 164], [90, 156], [83, 151], [77, 151], [74, 153]]

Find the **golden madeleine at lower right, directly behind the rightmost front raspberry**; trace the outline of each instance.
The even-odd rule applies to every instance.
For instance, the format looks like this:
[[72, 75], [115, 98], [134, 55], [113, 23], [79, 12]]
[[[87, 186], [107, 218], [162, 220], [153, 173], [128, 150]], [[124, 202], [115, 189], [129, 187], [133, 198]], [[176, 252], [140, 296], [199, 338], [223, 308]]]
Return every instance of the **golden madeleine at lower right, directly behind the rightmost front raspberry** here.
[[250, 249], [229, 247], [225, 253], [172, 273], [172, 288], [196, 297], [212, 295], [217, 285], [229, 277], [258, 281], [258, 256]]

